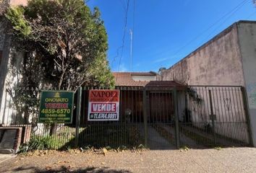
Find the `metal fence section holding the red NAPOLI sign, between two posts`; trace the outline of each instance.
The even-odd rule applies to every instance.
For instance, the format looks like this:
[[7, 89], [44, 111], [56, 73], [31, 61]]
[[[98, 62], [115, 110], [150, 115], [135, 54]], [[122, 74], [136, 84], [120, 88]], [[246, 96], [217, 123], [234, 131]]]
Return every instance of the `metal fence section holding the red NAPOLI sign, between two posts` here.
[[82, 90], [79, 146], [132, 148], [144, 146], [142, 87], [117, 87], [120, 91], [118, 121], [88, 121], [88, 94]]

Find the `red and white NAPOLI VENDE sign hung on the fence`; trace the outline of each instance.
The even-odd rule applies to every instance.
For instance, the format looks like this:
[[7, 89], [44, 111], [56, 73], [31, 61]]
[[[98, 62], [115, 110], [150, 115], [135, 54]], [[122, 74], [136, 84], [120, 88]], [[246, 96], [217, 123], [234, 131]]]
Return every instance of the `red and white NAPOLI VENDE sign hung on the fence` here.
[[90, 90], [88, 121], [109, 120], [119, 120], [119, 90]]

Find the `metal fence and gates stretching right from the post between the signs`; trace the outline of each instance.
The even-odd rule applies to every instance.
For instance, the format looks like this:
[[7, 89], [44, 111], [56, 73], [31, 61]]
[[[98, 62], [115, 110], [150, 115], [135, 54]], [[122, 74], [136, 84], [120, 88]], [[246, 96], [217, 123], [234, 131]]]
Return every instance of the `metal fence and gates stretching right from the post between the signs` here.
[[248, 146], [247, 105], [241, 86], [117, 87], [120, 119], [87, 121], [83, 91], [80, 146], [148, 146], [168, 149]]

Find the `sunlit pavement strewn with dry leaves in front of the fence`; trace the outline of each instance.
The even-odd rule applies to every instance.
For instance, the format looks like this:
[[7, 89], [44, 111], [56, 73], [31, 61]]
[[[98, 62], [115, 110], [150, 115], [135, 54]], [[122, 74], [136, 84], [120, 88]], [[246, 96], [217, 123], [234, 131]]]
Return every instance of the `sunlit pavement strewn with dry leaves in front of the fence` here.
[[0, 172], [255, 172], [256, 148], [165, 151], [36, 151]]

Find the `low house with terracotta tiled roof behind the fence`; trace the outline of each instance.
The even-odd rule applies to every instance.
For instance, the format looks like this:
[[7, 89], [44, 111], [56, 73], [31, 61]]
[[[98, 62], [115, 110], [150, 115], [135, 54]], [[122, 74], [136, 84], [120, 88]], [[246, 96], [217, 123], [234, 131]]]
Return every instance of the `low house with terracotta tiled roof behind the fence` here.
[[[150, 123], [170, 123], [174, 120], [172, 89], [184, 86], [176, 81], [156, 81], [157, 74], [150, 72], [113, 72], [115, 85], [120, 92], [121, 115], [131, 110], [132, 122], [143, 122], [143, 89], [147, 90], [148, 120]], [[124, 88], [124, 89], [122, 89]]]

